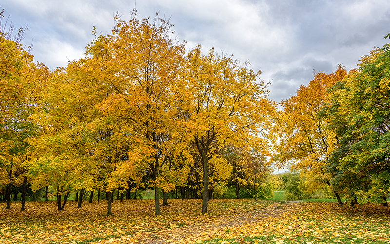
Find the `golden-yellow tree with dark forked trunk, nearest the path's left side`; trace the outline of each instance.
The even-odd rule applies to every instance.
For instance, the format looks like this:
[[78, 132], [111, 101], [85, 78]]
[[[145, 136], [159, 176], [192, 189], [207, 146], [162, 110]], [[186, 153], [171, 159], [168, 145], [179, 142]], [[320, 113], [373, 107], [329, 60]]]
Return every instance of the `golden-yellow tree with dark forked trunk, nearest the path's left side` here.
[[266, 151], [272, 138], [267, 129], [273, 104], [267, 99], [264, 81], [255, 83], [260, 72], [254, 73], [247, 64], [240, 66], [213, 49], [204, 55], [200, 47], [187, 55], [181, 119], [202, 160], [202, 213], [207, 212], [209, 199], [209, 163], [220, 157], [217, 149], [234, 144]]

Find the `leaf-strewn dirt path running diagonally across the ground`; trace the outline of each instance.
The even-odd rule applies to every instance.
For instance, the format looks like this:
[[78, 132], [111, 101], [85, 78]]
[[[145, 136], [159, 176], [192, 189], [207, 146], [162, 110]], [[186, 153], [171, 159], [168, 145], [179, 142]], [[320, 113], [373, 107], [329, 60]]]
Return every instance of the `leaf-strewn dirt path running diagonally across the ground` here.
[[[255, 223], [266, 220], [267, 218], [281, 217], [285, 212], [289, 211], [294, 205], [302, 204], [301, 202], [280, 202], [272, 203], [266, 208], [259, 209], [244, 214], [233, 215], [228, 218], [211, 218], [208, 222], [196, 223], [193, 225], [185, 225], [180, 228], [162, 229], [153, 232], [139, 232], [131, 239], [115, 240], [112, 243], [142, 243], [142, 244], [164, 244], [164, 243], [188, 243], [195, 241], [190, 237], [210, 237], [213, 234], [226, 231], [229, 228], [234, 228], [240, 225]], [[190, 239], [189, 239], [190, 238]]]

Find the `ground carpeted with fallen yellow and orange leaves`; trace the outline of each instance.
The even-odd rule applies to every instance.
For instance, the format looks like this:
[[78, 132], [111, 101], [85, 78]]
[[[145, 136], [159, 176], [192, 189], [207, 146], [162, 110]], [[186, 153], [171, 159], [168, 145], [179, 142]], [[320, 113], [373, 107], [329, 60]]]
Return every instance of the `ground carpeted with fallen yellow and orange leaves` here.
[[211, 200], [201, 214], [201, 200], [170, 199], [154, 216], [154, 200], [106, 202], [28, 202], [5, 209], [0, 203], [0, 243], [390, 243], [390, 207], [366, 204], [275, 203]]

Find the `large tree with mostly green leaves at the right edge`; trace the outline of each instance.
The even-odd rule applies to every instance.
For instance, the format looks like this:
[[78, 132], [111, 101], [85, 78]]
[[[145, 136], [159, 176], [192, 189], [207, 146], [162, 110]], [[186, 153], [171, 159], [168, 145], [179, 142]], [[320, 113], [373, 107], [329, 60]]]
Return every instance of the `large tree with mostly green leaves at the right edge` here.
[[331, 157], [339, 178], [335, 184], [350, 196], [377, 203], [386, 203], [390, 186], [389, 48], [375, 48], [356, 72], [336, 83], [326, 111], [338, 139]]

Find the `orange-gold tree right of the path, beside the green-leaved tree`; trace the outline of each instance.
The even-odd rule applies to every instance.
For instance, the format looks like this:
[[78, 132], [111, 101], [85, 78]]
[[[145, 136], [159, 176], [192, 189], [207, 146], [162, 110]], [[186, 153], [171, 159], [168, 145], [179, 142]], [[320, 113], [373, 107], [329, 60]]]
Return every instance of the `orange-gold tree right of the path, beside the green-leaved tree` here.
[[[280, 117], [279, 162], [294, 162], [293, 169], [301, 171], [316, 186], [326, 183], [331, 186], [333, 174], [325, 169], [330, 153], [335, 146], [335, 134], [328, 127], [329, 121], [320, 111], [330, 102], [327, 89], [347, 75], [341, 66], [331, 74], [317, 73], [308, 86], [301, 86], [295, 96], [283, 100]], [[342, 204], [339, 193], [334, 191]]]

